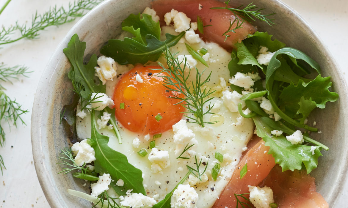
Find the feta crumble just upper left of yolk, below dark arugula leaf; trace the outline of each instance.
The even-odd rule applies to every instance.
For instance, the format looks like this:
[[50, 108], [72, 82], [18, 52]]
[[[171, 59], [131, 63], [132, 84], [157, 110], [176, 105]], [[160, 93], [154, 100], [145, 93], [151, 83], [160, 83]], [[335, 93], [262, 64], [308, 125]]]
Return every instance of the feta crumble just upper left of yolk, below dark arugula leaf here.
[[103, 85], [105, 85], [106, 81], [112, 80], [117, 75], [116, 62], [113, 58], [101, 56], [98, 58], [97, 64], [99, 67], [94, 67], [95, 74], [103, 82]]

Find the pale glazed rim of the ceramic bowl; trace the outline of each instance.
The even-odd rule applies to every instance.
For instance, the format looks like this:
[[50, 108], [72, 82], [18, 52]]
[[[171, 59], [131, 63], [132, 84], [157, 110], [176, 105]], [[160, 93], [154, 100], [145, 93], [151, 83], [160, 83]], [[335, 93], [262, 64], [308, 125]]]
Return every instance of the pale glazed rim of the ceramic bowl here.
[[[45, 159], [45, 155], [49, 155], [49, 152], [45, 147], [47, 146], [47, 142], [42, 139], [42, 131], [44, 131], [44, 125], [43, 124], [43, 117], [42, 115], [45, 115], [45, 112], [43, 111], [40, 104], [42, 104], [45, 99], [48, 96], [48, 92], [45, 90], [48, 86], [48, 83], [51, 81], [49, 78], [51, 75], [55, 72], [56, 67], [59, 65], [60, 62], [62, 62], [62, 59], [65, 58], [63, 52], [63, 49], [66, 48], [67, 43], [70, 41], [70, 38], [73, 34], [78, 33], [79, 30], [81, 30], [81, 23], [85, 21], [93, 21], [93, 14], [98, 14], [103, 10], [103, 8], [107, 8], [109, 4], [112, 3], [113, 0], [106, 0], [99, 5], [97, 5], [95, 8], [90, 10], [85, 16], [83, 16], [71, 29], [70, 31], [65, 35], [63, 40], [59, 43], [57, 48], [55, 49], [53, 55], [48, 61], [48, 64], [46, 65], [46, 68], [44, 72], [41, 75], [40, 81], [38, 83], [38, 87], [35, 93], [34, 102], [33, 102], [33, 108], [32, 108], [32, 116], [31, 116], [31, 143], [32, 143], [32, 152], [33, 152], [33, 158], [34, 158], [34, 165], [35, 170], [39, 179], [39, 183], [41, 185], [41, 188], [45, 194], [45, 197], [51, 207], [64, 207], [66, 205], [65, 203], [62, 203], [60, 200], [60, 193], [57, 193], [55, 189], [52, 189], [54, 184], [52, 184], [53, 180], [50, 177], [50, 167], [48, 166], [49, 163], [47, 163], [47, 158]], [[220, 0], [221, 1], [221, 0]], [[338, 67], [337, 63], [335, 62], [335, 59], [333, 58], [331, 52], [327, 49], [327, 47], [324, 46], [323, 41], [321, 38], [318, 37], [317, 32], [313, 30], [313, 28], [301, 17], [300, 14], [298, 14], [294, 9], [286, 5], [281, 0], [270, 0], [272, 4], [278, 5], [279, 7], [282, 7], [286, 9], [291, 15], [294, 16], [294, 19], [297, 19], [302, 23], [302, 27], [310, 31], [313, 34], [313, 39], [316, 41], [316, 44], [320, 46], [323, 49], [323, 54], [326, 54], [327, 57], [331, 60], [330, 65], [332, 68], [335, 69], [335, 71], [340, 74], [342, 73], [342, 70]], [[336, 82], [340, 82], [340, 87], [344, 88], [342, 91], [344, 92], [343, 95], [340, 95], [340, 102], [342, 103], [348, 103], [348, 96], [347, 96], [347, 83], [346, 81], [340, 77]], [[35, 145], [34, 145], [35, 144]], [[56, 157], [56, 155], [55, 155]], [[345, 151], [344, 155], [342, 155], [342, 160], [347, 161], [348, 160], [348, 152]], [[338, 170], [341, 174], [338, 178], [336, 178], [337, 188], [334, 189], [334, 192], [329, 193], [327, 197], [327, 202], [330, 204], [330, 206], [333, 206], [335, 204], [336, 199], [339, 197], [339, 193], [343, 187], [344, 183], [340, 183], [344, 181], [347, 178], [347, 170], [348, 170], [348, 163], [344, 163], [343, 166], [340, 167], [340, 170]]]

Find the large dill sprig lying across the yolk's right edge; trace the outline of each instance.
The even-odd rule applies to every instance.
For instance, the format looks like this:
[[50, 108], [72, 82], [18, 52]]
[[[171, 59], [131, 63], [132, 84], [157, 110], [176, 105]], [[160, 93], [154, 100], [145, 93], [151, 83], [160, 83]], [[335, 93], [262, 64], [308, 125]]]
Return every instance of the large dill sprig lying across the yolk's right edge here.
[[[158, 63], [162, 67], [161, 72], [166, 72], [167, 75], [158, 75], [158, 77], [163, 78], [164, 86], [171, 91], [177, 92], [179, 94], [183, 94], [184, 97], [179, 97], [176, 93], [173, 93], [173, 99], [178, 99], [180, 102], [176, 103], [181, 104], [187, 109], [187, 113], [192, 113], [196, 118], [185, 115], [185, 117], [193, 120], [189, 122], [198, 123], [199, 125], [204, 127], [204, 123], [216, 123], [218, 121], [206, 122], [203, 120], [204, 115], [206, 114], [214, 114], [210, 112], [213, 108], [214, 104], [211, 105], [209, 103], [208, 110], [203, 111], [203, 106], [207, 102], [211, 101], [211, 98], [208, 98], [209, 95], [215, 92], [210, 89], [207, 90], [204, 87], [204, 84], [207, 83], [210, 79], [212, 72], [209, 73], [208, 77], [205, 80], [202, 80], [201, 76], [204, 73], [199, 73], [198, 69], [196, 70], [196, 81], [191, 82], [191, 85], [188, 83], [188, 78], [191, 73], [191, 67], [189, 67], [186, 63], [187, 59], [185, 57], [184, 60], [179, 61], [179, 59], [174, 58], [173, 54], [167, 48], [164, 51], [165, 58], [167, 59], [168, 68], [164, 67], [163, 64]], [[183, 64], [183, 67], [181, 65]], [[185, 72], [184, 71], [188, 71]], [[204, 89], [203, 89], [204, 88]]]

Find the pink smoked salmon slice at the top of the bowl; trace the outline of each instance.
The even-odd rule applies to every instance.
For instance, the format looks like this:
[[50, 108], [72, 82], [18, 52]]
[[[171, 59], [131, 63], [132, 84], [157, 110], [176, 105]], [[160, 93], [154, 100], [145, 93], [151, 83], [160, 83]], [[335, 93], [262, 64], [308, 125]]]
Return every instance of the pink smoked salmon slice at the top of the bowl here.
[[[240, 6], [240, 5], [238, 5]], [[212, 0], [157, 0], [152, 2], [152, 8], [160, 17], [161, 25], [164, 23], [164, 15], [172, 9], [185, 13], [191, 22], [197, 21], [197, 16], [200, 16], [203, 21], [203, 34], [198, 30], [196, 33], [208, 42], [218, 43], [226, 50], [231, 50], [236, 42], [240, 42], [246, 38], [248, 34], [256, 32], [256, 28], [248, 22], [244, 22], [242, 28], [235, 30], [235, 33], [229, 32], [225, 41], [223, 33], [228, 31], [230, 21], [235, 20], [235, 15], [227, 9], [210, 9], [212, 7], [226, 7], [226, 4]], [[240, 18], [241, 19], [241, 18]], [[237, 22], [231, 27], [236, 27]]]

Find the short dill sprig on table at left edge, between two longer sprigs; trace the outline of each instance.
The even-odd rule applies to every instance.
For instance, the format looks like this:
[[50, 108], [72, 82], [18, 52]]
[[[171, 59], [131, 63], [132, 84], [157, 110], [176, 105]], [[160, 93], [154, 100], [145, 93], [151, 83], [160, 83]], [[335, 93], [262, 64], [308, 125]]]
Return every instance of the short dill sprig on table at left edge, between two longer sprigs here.
[[[24, 77], [28, 77], [26, 74], [31, 73], [28, 72], [28, 67], [26, 66], [13, 66], [9, 67], [4, 63], [0, 64], [0, 80], [4, 82], [11, 82], [10, 79], [17, 79], [18, 80], [18, 75], [23, 75]], [[5, 89], [1, 84], [0, 88]]]

